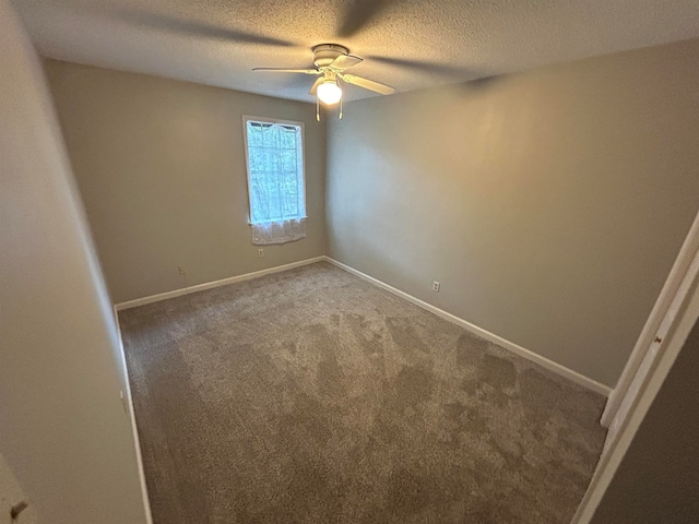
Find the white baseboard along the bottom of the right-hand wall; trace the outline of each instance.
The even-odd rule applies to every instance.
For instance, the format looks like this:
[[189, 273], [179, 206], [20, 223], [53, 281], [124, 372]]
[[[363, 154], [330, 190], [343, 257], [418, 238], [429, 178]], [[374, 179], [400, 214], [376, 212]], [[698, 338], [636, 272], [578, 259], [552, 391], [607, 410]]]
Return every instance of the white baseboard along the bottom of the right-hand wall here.
[[546, 357], [542, 357], [541, 355], [537, 355], [534, 352], [530, 352], [529, 349], [525, 349], [522, 346], [514, 344], [513, 342], [510, 342], [506, 338], [502, 338], [501, 336], [490, 333], [489, 331], [486, 331], [483, 327], [478, 327], [477, 325], [474, 325], [471, 322], [460, 319], [454, 314], [448, 313], [443, 309], [439, 309], [430, 303], [427, 303], [420, 300], [419, 298], [415, 298], [405, 291], [401, 291], [400, 289], [396, 289], [395, 287], [390, 286], [384, 282], [374, 278], [372, 276], [369, 276], [366, 273], [362, 273], [360, 271], [357, 271], [354, 267], [343, 264], [342, 262], [337, 262], [336, 260], [331, 259], [330, 257], [323, 257], [322, 259], [348, 273], [352, 273], [353, 275], [358, 276], [359, 278], [370, 282], [371, 284], [382, 289], [386, 289], [387, 291], [392, 293], [398, 297], [403, 298], [404, 300], [407, 300], [408, 302], [414, 303], [415, 306], [418, 306], [431, 313], [435, 313], [437, 317], [448, 320], [449, 322], [452, 322], [470, 331], [471, 333], [478, 335], [481, 338], [485, 338], [486, 341], [493, 342], [494, 344], [497, 344], [498, 346], [501, 346], [505, 349], [509, 349], [510, 352], [514, 353], [516, 355], [519, 355], [520, 357], [523, 357], [528, 360], [531, 360], [532, 362], [540, 365], [543, 368], [554, 371], [555, 373], [560, 374], [561, 377], [572, 382], [576, 382], [577, 384], [582, 385], [583, 388], [587, 388], [591, 391], [600, 393], [606, 397], [608, 397], [612, 392], [611, 388], [597, 382], [596, 380], [592, 380], [583, 374], [580, 374], [577, 371], [573, 371], [572, 369], [561, 366], [558, 362], [549, 360]]

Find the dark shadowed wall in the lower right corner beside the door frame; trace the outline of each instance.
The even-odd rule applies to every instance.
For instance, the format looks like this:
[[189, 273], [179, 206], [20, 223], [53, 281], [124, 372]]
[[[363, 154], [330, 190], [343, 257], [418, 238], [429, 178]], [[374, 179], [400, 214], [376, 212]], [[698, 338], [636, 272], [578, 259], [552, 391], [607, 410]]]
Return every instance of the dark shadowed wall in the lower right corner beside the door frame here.
[[[695, 289], [696, 293], [696, 289]], [[643, 418], [592, 519], [594, 524], [672, 522], [699, 515], [699, 323]]]

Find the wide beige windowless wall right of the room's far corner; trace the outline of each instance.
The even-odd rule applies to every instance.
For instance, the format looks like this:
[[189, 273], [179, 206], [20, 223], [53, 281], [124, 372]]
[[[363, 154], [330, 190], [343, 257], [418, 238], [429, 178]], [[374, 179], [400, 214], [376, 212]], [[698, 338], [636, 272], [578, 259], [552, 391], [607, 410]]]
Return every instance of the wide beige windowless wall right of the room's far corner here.
[[329, 254], [614, 385], [699, 209], [698, 55], [347, 104], [329, 126]]

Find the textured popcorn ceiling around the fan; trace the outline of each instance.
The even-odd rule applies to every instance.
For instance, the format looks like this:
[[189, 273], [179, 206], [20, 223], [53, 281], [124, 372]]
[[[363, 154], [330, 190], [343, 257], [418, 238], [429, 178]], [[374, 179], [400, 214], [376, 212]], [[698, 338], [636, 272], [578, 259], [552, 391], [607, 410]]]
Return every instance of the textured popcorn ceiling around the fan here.
[[[49, 58], [312, 102], [310, 48], [398, 92], [699, 37], [697, 0], [14, 0]], [[375, 96], [347, 86], [346, 99]]]

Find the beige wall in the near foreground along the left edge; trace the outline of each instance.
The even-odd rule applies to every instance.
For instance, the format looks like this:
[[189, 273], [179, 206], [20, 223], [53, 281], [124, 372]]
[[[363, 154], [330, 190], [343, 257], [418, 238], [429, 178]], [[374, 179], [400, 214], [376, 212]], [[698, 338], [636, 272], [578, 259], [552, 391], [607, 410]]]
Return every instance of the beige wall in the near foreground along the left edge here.
[[114, 314], [42, 64], [7, 0], [0, 49], [0, 454], [32, 504], [20, 521], [144, 523]]

